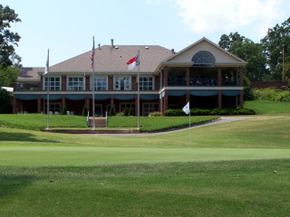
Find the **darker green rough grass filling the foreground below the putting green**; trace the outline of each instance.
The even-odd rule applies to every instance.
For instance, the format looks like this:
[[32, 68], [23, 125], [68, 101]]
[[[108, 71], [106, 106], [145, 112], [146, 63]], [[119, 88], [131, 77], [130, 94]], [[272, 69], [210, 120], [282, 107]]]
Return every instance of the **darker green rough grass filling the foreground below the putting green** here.
[[0, 216], [287, 216], [289, 179], [289, 159], [0, 166]]

